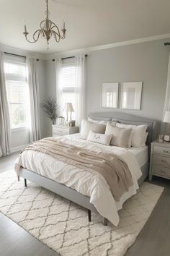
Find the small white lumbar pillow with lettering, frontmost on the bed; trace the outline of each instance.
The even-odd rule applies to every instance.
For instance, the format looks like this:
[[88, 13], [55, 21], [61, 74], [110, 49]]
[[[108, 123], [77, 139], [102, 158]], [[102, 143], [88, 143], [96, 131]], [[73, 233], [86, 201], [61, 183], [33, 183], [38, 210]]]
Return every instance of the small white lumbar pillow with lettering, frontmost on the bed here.
[[112, 139], [112, 135], [106, 135], [96, 132], [89, 132], [89, 135], [87, 137], [87, 140], [91, 142], [96, 142], [103, 145], [109, 145], [110, 140]]

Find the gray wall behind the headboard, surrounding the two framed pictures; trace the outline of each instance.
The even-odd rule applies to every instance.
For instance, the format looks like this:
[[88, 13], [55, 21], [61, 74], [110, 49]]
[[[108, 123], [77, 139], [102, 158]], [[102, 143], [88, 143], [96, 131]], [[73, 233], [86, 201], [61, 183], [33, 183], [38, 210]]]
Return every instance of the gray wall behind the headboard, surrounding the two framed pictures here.
[[161, 120], [169, 61], [169, 47], [164, 41], [91, 52], [86, 59], [86, 114], [112, 111], [101, 107], [102, 82], [143, 81], [141, 110], [116, 111]]

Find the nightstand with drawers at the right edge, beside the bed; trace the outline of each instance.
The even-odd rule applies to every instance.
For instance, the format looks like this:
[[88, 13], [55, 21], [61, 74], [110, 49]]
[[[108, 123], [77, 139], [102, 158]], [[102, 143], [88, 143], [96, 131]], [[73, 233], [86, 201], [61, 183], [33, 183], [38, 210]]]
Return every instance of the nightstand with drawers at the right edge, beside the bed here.
[[153, 175], [170, 179], [170, 142], [151, 143], [150, 181]]

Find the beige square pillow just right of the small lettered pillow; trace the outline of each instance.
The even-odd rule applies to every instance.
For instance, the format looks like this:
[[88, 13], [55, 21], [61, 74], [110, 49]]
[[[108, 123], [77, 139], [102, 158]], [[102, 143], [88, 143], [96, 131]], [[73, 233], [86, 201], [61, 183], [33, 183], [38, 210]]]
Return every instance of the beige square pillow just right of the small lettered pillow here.
[[128, 139], [131, 131], [132, 128], [112, 127], [111, 124], [107, 124], [105, 133], [112, 135], [112, 140], [110, 142], [111, 145], [121, 148], [128, 148]]

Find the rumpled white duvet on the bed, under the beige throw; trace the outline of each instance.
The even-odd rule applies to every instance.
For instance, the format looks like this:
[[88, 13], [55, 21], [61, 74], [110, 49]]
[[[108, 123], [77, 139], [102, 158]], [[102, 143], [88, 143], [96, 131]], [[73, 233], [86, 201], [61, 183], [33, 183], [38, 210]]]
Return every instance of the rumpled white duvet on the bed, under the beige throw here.
[[76, 189], [76, 191], [83, 195], [89, 196], [90, 202], [94, 204], [97, 211], [117, 226], [120, 221], [118, 210], [122, 208], [122, 204], [125, 200], [136, 193], [138, 189], [138, 179], [142, 175], [135, 155], [124, 148], [105, 146], [81, 140], [79, 134], [68, 135], [58, 140], [97, 152], [104, 151], [119, 155], [128, 164], [133, 178], [133, 186], [130, 187], [128, 192], [122, 195], [119, 202], [116, 202], [109, 190], [107, 182], [102, 176], [97, 176], [95, 173], [91, 174], [91, 172], [83, 168], [77, 168], [63, 163], [62, 157], [60, 161], [58, 161], [50, 155], [26, 150], [19, 155], [16, 163], [19, 163], [20, 166], [32, 170], [37, 174], [46, 176], [58, 183], [65, 184], [72, 189]]

